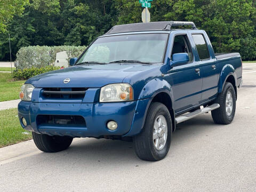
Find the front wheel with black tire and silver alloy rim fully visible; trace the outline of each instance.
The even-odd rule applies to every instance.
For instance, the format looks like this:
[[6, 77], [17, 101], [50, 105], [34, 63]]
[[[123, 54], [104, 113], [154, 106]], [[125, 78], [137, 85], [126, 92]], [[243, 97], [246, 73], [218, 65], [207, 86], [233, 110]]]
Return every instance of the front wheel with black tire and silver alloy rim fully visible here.
[[[165, 126], [166, 128], [164, 128], [162, 124], [166, 124], [167, 127]], [[153, 134], [156, 139], [153, 139]], [[142, 160], [159, 161], [167, 155], [171, 139], [172, 119], [169, 110], [162, 103], [151, 103], [143, 130], [140, 134], [133, 137], [135, 153]], [[162, 145], [157, 145], [157, 143], [162, 143]]]

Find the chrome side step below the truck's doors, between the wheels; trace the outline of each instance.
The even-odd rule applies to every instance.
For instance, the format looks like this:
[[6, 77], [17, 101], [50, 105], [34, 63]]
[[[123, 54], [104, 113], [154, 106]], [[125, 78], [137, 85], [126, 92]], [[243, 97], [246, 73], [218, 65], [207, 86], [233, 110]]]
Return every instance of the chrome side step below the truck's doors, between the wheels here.
[[207, 113], [207, 112], [209, 112], [211, 110], [214, 110], [214, 109], [217, 109], [219, 107], [220, 107], [220, 105], [218, 103], [214, 103], [211, 106], [207, 106], [207, 107], [205, 107], [203, 109], [198, 109], [198, 110], [196, 110], [194, 112], [183, 114], [183, 115], [181, 115], [179, 117], [176, 117], [175, 118], [175, 122], [176, 122], [176, 124], [181, 123], [181, 122], [185, 122], [188, 119], [194, 118], [194, 117], [196, 117], [198, 115], [202, 115], [204, 113]]

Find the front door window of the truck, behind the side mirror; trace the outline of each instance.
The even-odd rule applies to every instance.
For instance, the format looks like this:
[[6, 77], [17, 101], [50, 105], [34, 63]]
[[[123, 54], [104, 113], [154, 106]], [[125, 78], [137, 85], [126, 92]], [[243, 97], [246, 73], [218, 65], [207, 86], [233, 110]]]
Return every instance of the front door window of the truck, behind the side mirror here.
[[193, 61], [193, 53], [187, 35], [177, 35], [174, 37], [172, 55], [175, 53], [188, 53], [189, 62]]

